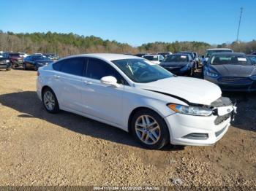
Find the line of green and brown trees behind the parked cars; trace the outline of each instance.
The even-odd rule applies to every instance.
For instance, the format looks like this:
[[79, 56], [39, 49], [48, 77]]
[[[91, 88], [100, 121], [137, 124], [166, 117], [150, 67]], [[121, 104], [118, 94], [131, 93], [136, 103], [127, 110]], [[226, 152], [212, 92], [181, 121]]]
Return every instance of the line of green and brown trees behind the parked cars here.
[[61, 57], [81, 53], [114, 52], [135, 54], [138, 52], [179, 52], [190, 50], [203, 54], [211, 47], [228, 47], [235, 52], [249, 54], [256, 51], [256, 41], [208, 44], [206, 42], [153, 42], [132, 47], [127, 43], [103, 40], [97, 36], [62, 33], [13, 33], [0, 31], [0, 51], [56, 53]]

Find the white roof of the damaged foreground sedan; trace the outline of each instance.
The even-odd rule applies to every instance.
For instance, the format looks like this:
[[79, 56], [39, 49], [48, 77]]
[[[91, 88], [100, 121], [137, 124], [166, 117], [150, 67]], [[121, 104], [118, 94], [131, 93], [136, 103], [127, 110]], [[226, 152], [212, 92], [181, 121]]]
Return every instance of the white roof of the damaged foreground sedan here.
[[134, 55], [123, 55], [123, 54], [112, 54], [112, 53], [93, 53], [93, 54], [82, 54], [82, 55], [72, 55], [66, 58], [73, 58], [73, 57], [91, 57], [91, 58], [99, 58], [105, 61], [115, 61], [121, 59], [143, 59], [139, 58], [138, 56]]

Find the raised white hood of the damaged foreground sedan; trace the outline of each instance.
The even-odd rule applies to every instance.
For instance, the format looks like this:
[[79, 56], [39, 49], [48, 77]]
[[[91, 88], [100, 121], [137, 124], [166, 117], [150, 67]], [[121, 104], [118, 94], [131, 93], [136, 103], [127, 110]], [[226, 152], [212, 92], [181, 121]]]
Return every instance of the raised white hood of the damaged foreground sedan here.
[[214, 83], [191, 77], [170, 77], [145, 84], [138, 83], [135, 87], [174, 95], [173, 97], [185, 99], [189, 103], [208, 106], [222, 96], [222, 91]]

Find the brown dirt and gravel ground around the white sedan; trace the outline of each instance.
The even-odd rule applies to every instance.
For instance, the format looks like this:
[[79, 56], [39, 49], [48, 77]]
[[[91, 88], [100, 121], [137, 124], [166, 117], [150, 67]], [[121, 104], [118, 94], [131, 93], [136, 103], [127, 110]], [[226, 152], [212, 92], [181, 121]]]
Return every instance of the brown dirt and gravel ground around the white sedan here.
[[256, 94], [211, 147], [148, 150], [128, 133], [68, 112], [48, 114], [35, 71], [0, 71], [0, 185], [256, 184]]

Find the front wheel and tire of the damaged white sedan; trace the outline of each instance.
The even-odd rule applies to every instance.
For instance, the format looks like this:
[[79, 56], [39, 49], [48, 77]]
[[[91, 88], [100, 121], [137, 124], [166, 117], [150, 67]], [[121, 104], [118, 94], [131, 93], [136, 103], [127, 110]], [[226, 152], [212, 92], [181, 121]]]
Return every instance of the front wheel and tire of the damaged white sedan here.
[[[148, 117], [148, 119], [146, 119]], [[147, 124], [144, 125], [143, 119]], [[156, 123], [155, 123], [156, 122]], [[161, 149], [170, 142], [169, 130], [165, 120], [150, 109], [141, 109], [132, 117], [132, 135], [135, 139], [148, 149]], [[155, 129], [155, 130], [154, 130]], [[144, 133], [144, 134], [143, 134]], [[153, 139], [151, 139], [151, 137]]]

